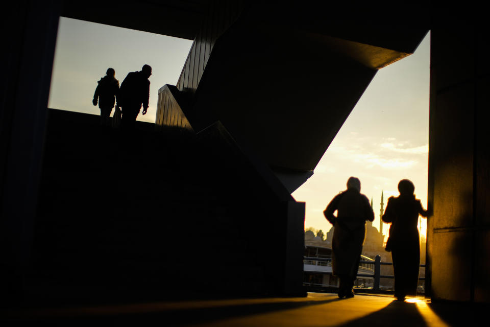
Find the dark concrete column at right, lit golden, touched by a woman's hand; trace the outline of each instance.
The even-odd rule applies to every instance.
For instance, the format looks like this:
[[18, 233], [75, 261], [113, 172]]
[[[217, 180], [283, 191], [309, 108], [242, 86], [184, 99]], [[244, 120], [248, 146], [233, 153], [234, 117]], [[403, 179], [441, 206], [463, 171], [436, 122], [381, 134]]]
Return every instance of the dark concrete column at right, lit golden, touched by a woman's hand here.
[[473, 20], [435, 21], [431, 31], [427, 254], [434, 300], [490, 302], [490, 43]]

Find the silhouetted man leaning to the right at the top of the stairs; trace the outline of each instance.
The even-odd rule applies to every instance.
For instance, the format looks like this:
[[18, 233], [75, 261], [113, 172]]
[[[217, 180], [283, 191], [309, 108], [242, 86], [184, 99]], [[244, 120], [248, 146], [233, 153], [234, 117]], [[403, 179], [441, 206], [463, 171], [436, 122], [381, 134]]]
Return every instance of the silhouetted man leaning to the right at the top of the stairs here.
[[148, 110], [150, 100], [150, 81], [152, 67], [144, 65], [139, 72], [129, 73], [122, 81], [119, 90], [118, 104], [121, 106], [122, 127], [126, 129], [134, 128], [134, 122], [143, 106], [143, 114]]

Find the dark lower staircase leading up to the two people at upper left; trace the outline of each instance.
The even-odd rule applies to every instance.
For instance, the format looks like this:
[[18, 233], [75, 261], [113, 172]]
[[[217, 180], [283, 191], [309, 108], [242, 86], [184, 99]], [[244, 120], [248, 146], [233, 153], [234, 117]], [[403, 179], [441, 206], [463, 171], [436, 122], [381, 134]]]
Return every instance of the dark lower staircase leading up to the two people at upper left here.
[[291, 274], [302, 274], [304, 204], [222, 126], [127, 134], [98, 122], [50, 109], [28, 298], [302, 292]]

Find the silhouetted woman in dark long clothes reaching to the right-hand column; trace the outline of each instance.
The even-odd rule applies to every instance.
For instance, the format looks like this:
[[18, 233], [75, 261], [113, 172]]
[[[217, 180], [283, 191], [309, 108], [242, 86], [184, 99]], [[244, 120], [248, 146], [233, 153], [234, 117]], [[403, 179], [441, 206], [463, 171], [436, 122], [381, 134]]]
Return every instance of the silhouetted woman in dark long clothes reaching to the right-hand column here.
[[395, 271], [395, 297], [403, 301], [406, 295], [416, 295], [420, 267], [419, 215], [427, 211], [415, 199], [415, 186], [408, 179], [398, 183], [400, 196], [390, 197], [382, 217], [389, 227], [386, 250], [391, 251]]

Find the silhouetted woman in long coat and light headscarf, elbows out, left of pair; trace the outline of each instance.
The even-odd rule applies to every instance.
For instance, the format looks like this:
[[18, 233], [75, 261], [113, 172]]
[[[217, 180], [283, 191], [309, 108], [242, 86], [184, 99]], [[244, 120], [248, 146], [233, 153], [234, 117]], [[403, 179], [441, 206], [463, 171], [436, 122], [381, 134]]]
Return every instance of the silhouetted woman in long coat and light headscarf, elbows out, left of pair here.
[[[352, 287], [357, 278], [366, 220], [374, 220], [373, 208], [360, 193], [361, 182], [356, 177], [347, 181], [347, 190], [335, 196], [323, 212], [334, 225], [332, 239], [332, 270], [340, 279], [338, 297], [353, 297]], [[333, 214], [337, 211], [337, 217]]]

